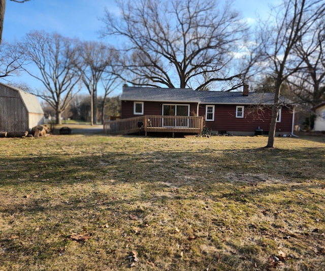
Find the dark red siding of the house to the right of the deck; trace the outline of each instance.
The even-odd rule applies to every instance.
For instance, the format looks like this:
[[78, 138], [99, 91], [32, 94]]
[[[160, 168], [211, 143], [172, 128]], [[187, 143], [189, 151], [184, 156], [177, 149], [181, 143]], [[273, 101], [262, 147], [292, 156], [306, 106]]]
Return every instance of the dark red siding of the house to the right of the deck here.
[[[259, 127], [268, 132], [271, 124], [271, 108], [256, 109], [254, 106], [244, 107], [244, 117], [236, 117], [237, 105], [215, 105], [214, 122], [206, 121], [205, 126], [212, 131], [238, 131], [254, 133]], [[205, 115], [206, 105], [201, 104], [199, 115]], [[282, 108], [281, 122], [277, 123], [277, 132], [291, 132], [292, 110]]]

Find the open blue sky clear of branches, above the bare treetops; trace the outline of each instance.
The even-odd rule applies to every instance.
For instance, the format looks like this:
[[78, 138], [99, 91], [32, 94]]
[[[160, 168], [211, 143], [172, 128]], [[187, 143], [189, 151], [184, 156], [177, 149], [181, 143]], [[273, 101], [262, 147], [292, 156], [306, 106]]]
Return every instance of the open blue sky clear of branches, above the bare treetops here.
[[[234, 8], [241, 12], [243, 18], [254, 21], [257, 13], [262, 17], [267, 16], [268, 3], [274, 4], [278, 1], [236, 0]], [[19, 41], [27, 33], [36, 30], [57, 32], [62, 36], [78, 37], [81, 40], [103, 40], [99, 31], [104, 24], [99, 18], [104, 16], [105, 8], [118, 12], [114, 0], [30, 0], [23, 4], [7, 0], [3, 40]], [[26, 83], [31, 87], [41, 86], [39, 82], [24, 75], [19, 78], [11, 77], [10, 80], [27, 80]]]

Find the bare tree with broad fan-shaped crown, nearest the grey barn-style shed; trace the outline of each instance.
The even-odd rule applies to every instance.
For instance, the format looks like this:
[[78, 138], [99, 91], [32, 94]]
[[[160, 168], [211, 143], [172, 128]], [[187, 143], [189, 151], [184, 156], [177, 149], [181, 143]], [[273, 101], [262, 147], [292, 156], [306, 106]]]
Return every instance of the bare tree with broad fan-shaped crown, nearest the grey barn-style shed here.
[[45, 87], [37, 96], [55, 109], [56, 124], [61, 124], [61, 113], [80, 90], [76, 90], [76, 86], [81, 75], [75, 69], [78, 42], [56, 33], [50, 35], [45, 32], [31, 32], [20, 45], [26, 61], [38, 68], [38, 72], [30, 66], [24, 70], [40, 80]]

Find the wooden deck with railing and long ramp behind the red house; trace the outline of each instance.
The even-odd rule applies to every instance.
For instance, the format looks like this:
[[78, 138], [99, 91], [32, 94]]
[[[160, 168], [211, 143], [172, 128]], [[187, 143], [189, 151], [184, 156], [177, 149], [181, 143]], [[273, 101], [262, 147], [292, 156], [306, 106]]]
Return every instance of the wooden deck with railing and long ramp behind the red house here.
[[170, 132], [173, 133], [198, 133], [202, 135], [203, 116], [160, 116], [144, 115], [104, 121], [104, 134], [132, 134], [140, 131]]

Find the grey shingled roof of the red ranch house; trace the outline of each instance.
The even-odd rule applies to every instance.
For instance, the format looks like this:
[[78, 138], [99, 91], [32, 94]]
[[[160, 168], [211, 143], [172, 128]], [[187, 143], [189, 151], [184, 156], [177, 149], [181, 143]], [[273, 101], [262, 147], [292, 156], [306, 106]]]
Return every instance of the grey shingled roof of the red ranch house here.
[[[151, 101], [173, 103], [200, 103], [200, 104], [273, 104], [273, 93], [249, 93], [243, 96], [242, 92], [193, 91], [191, 88], [156, 88], [123, 86], [121, 100], [124, 101]], [[280, 103], [291, 103], [281, 97]]]

